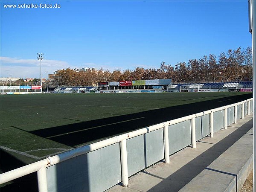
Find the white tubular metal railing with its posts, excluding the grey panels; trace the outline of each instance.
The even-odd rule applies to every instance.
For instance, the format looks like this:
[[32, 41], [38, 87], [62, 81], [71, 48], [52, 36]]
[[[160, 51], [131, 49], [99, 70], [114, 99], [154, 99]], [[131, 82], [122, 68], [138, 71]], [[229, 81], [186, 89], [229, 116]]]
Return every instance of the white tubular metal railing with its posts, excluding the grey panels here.
[[[33, 172], [37, 172], [38, 176], [38, 189], [39, 191], [47, 191], [47, 174], [46, 168], [57, 163], [61, 163], [65, 160], [71, 159], [73, 157], [77, 157], [81, 154], [86, 154], [90, 151], [95, 151], [97, 149], [106, 147], [108, 145], [112, 145], [115, 143], [120, 143], [120, 152], [121, 152], [121, 172], [122, 172], [122, 185], [128, 186], [128, 165], [127, 165], [127, 147], [126, 140], [140, 136], [142, 134], [146, 134], [151, 131], [155, 131], [157, 129], [163, 128], [163, 139], [164, 139], [164, 160], [166, 163], [170, 163], [170, 154], [169, 154], [169, 136], [168, 136], [168, 126], [174, 125], [180, 122], [184, 122], [186, 120], [191, 120], [191, 134], [192, 134], [192, 148], [196, 148], [196, 134], [195, 134], [195, 118], [204, 116], [209, 114], [209, 122], [210, 122], [210, 137], [214, 136], [214, 112], [224, 110], [224, 129], [227, 129], [227, 109], [234, 107], [234, 123], [237, 122], [237, 105], [241, 105], [241, 119], [244, 119], [244, 104], [247, 103], [247, 115], [250, 114], [250, 101], [253, 99], [247, 99], [242, 102], [234, 103], [232, 105], [223, 106], [220, 108], [215, 108], [212, 110], [204, 111], [201, 113], [192, 114], [189, 116], [184, 116], [178, 119], [173, 119], [170, 121], [162, 122], [157, 125], [152, 125], [146, 128], [141, 128], [136, 131], [131, 131], [126, 134], [122, 134], [116, 137], [112, 137], [106, 140], [99, 141], [97, 143], [93, 143], [90, 145], [85, 145], [81, 148], [76, 148], [71, 151], [67, 151], [53, 157], [47, 157], [44, 160], [40, 160], [38, 162], [29, 164], [27, 166], [20, 167], [18, 169], [14, 169], [9, 172], [2, 173], [0, 175], [0, 184], [6, 183], [8, 181], [14, 180], [18, 177], [22, 177], [28, 175]], [[157, 163], [157, 162], [155, 162]], [[116, 183], [117, 184], [117, 183]]]

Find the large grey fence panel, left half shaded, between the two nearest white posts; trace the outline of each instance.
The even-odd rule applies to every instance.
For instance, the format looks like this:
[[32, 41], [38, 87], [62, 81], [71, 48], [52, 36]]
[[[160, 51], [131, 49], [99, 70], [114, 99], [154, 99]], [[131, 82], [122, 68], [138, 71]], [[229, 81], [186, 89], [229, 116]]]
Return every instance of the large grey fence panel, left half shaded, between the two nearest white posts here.
[[105, 191], [122, 180], [119, 143], [47, 167], [46, 173], [48, 191]]

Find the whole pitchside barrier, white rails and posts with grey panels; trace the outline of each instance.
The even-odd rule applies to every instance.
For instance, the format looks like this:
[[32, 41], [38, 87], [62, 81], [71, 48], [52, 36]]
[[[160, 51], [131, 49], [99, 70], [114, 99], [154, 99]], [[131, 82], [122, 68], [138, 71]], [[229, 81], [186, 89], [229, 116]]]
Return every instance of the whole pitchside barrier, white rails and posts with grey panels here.
[[37, 172], [39, 191], [105, 191], [253, 111], [253, 99], [141, 128], [0, 175], [0, 184]]

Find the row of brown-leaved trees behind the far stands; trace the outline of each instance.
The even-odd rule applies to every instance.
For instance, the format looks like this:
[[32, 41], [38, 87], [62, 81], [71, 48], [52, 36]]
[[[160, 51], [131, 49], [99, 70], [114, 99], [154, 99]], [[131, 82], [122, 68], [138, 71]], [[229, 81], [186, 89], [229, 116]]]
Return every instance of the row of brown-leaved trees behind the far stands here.
[[58, 70], [53, 82], [58, 86], [85, 86], [102, 81], [172, 79], [172, 82], [252, 81], [252, 47], [229, 49], [218, 55], [204, 55], [200, 59], [178, 62], [173, 67], [164, 61], [159, 69], [137, 67], [135, 70], [79, 71]]

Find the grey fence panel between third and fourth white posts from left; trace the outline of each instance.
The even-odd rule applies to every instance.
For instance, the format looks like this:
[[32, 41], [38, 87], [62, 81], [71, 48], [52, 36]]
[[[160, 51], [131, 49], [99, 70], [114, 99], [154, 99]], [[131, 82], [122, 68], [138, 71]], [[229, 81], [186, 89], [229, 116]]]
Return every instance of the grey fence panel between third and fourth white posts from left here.
[[190, 120], [186, 120], [175, 125], [170, 125], [168, 126], [168, 130], [170, 154], [173, 154], [180, 149], [192, 144]]

